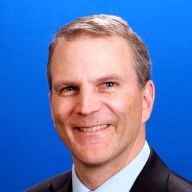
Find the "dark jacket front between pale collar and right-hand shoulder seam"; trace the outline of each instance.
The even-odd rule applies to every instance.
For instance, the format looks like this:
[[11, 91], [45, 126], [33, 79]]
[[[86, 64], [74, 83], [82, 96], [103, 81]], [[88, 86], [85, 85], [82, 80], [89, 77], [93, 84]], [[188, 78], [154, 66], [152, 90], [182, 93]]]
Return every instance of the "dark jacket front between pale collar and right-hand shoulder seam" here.
[[167, 191], [169, 169], [151, 149], [150, 157], [130, 192]]

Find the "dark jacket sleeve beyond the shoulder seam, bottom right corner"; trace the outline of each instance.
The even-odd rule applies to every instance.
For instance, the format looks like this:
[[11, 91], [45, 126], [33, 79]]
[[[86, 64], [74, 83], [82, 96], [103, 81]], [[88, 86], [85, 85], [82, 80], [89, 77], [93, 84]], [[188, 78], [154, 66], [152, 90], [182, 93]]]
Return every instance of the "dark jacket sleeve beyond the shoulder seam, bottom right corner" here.
[[192, 192], [192, 183], [170, 171], [168, 179], [168, 192]]

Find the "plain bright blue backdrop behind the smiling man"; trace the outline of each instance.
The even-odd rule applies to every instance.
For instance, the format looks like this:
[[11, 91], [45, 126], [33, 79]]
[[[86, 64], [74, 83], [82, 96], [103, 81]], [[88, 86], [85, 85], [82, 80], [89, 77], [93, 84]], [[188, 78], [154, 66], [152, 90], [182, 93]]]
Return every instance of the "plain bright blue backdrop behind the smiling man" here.
[[126, 19], [149, 48], [156, 85], [147, 138], [192, 180], [191, 0], [0, 0], [0, 186], [23, 191], [71, 167], [52, 124], [47, 48], [61, 25], [83, 15]]

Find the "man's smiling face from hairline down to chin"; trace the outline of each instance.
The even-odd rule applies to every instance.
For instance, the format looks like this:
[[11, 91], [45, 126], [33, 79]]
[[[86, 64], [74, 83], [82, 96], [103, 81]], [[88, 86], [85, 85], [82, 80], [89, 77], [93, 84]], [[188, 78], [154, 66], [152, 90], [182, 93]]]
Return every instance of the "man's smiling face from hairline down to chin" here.
[[144, 142], [147, 91], [123, 38], [60, 39], [51, 74], [54, 124], [75, 162], [104, 164], [129, 155], [138, 137]]

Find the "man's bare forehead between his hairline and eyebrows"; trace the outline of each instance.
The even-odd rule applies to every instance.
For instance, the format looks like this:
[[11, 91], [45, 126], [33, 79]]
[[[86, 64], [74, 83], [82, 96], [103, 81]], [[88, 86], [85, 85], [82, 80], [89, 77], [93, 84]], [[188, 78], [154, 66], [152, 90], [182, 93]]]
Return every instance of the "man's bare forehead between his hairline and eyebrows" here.
[[91, 77], [108, 73], [133, 72], [133, 52], [122, 37], [83, 36], [71, 41], [57, 40], [52, 55], [52, 76], [63, 77], [88, 75]]

